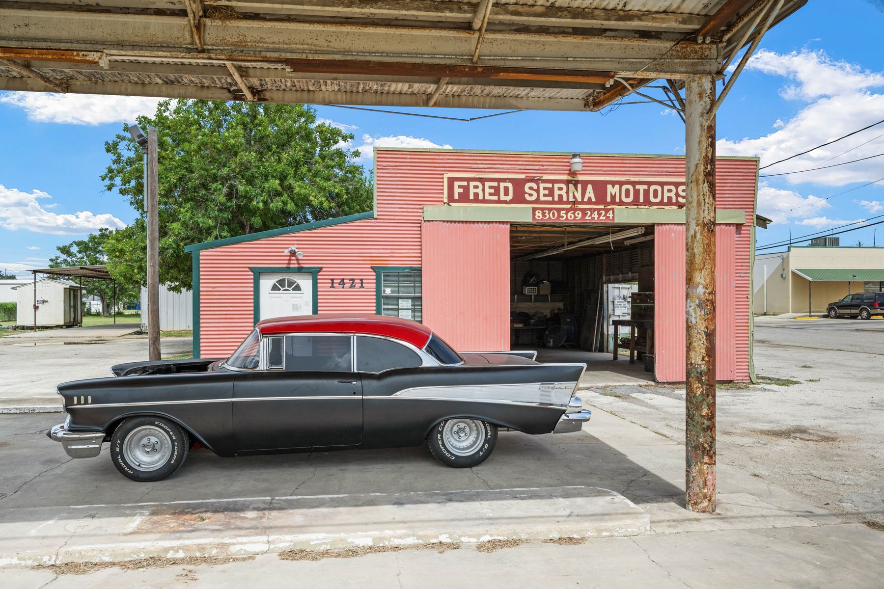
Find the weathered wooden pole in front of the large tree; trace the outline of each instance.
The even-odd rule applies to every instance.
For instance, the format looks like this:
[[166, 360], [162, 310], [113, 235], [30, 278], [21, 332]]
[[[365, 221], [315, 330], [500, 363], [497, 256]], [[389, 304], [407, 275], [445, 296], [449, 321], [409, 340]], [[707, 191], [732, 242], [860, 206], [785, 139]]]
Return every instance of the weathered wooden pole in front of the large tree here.
[[148, 129], [148, 346], [151, 361], [160, 359], [159, 162], [156, 129]]

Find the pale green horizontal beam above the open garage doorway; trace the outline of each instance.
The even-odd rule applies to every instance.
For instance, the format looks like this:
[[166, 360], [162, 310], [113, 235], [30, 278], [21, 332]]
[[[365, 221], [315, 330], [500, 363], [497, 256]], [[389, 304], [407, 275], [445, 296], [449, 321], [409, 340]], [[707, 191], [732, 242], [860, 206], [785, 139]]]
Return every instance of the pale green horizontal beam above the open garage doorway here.
[[[499, 221], [531, 223], [531, 207], [516, 205], [424, 205], [424, 221]], [[614, 224], [636, 223], [684, 223], [683, 208], [613, 208]], [[746, 223], [742, 208], [719, 208], [715, 211], [715, 223]], [[573, 222], [570, 224], [574, 224]]]

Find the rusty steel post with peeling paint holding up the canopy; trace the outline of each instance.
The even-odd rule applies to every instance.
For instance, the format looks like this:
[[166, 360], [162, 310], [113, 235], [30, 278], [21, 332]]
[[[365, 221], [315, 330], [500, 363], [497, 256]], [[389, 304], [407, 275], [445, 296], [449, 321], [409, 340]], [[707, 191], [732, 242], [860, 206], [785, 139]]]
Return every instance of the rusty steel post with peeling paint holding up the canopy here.
[[715, 510], [715, 79], [685, 90], [685, 502]]

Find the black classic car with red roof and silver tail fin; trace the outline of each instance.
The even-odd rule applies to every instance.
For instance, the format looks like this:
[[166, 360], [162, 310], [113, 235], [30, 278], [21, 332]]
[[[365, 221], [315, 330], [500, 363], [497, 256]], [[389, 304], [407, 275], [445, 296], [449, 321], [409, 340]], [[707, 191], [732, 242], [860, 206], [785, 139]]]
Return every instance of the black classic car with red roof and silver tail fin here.
[[58, 386], [48, 435], [71, 457], [110, 442], [137, 481], [177, 471], [195, 443], [218, 456], [417, 446], [442, 464], [483, 462], [499, 429], [579, 431], [585, 364], [533, 351], [457, 353], [415, 321], [312, 315], [260, 321], [227, 359], [133, 362]]

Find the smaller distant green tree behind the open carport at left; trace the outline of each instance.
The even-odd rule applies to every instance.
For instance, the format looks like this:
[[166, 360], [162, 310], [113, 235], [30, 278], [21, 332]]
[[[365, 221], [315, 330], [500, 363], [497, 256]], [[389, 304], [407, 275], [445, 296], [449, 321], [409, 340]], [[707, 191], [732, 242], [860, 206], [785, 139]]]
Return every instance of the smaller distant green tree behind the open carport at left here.
[[[113, 235], [113, 231], [109, 229], [100, 229], [97, 233], [90, 233], [86, 239], [76, 239], [67, 245], [58, 245], [56, 248], [58, 255], [50, 258], [50, 268], [109, 264], [110, 272], [113, 274], [112, 264], [104, 251], [105, 245]], [[137, 282], [118, 281], [116, 289], [118, 303], [133, 302], [140, 296]], [[105, 317], [110, 315], [110, 307], [114, 300], [114, 283], [108, 280], [84, 278], [83, 290], [87, 295], [98, 297], [102, 302], [103, 315]]]

